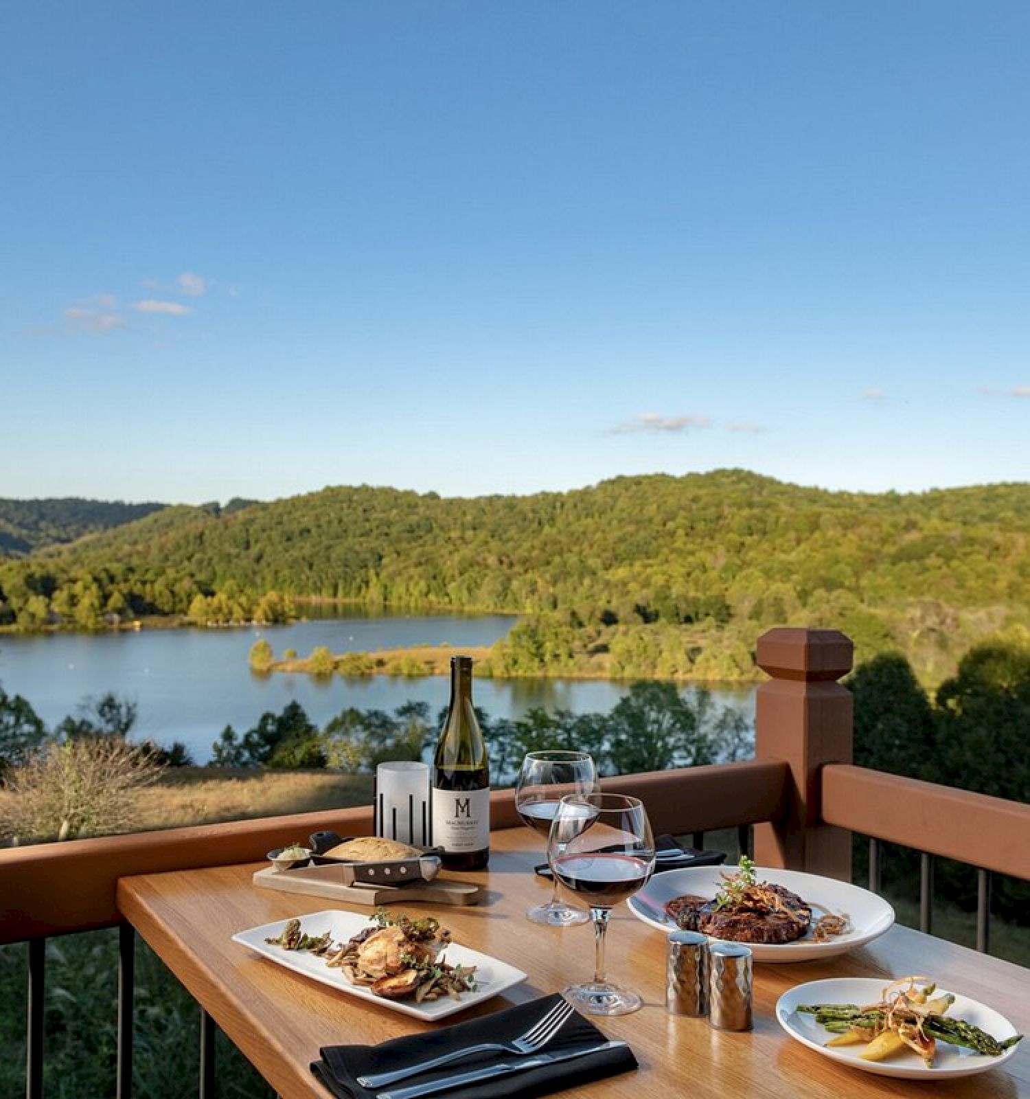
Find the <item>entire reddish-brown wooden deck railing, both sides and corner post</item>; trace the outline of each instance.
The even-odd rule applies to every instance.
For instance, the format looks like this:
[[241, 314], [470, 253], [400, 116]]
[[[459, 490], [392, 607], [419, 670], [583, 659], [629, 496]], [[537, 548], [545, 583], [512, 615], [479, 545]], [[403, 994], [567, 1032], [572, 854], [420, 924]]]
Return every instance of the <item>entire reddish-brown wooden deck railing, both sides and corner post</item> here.
[[[851, 668], [851, 642], [832, 630], [772, 630], [757, 659], [770, 676], [758, 690], [755, 759], [606, 779], [640, 796], [656, 832], [693, 834], [753, 825], [753, 853], [765, 866], [851, 877], [852, 833], [922, 853], [921, 923], [930, 930], [932, 857], [979, 869], [977, 945], [987, 948], [992, 872], [1030, 879], [1030, 806], [898, 778], [852, 765], [851, 693], [838, 681]], [[511, 790], [492, 797], [492, 824], [518, 823]], [[42, 1094], [45, 940], [120, 923], [117, 879], [135, 874], [262, 858], [282, 843], [333, 829], [368, 834], [371, 807], [170, 829], [0, 851], [0, 944], [30, 941], [27, 1096]], [[132, 929], [122, 925], [119, 1099], [132, 1067]], [[213, 1024], [204, 1019], [201, 1096], [213, 1079]]]

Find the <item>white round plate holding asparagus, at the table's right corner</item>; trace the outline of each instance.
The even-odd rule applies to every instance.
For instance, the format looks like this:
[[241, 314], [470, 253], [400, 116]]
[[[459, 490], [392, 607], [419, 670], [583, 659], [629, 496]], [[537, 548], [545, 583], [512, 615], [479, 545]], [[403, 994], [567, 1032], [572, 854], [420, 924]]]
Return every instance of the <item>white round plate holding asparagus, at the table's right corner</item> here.
[[[791, 1037], [816, 1053], [821, 1053], [824, 1057], [851, 1068], [861, 1068], [864, 1073], [903, 1079], [947, 1080], [955, 1076], [974, 1076], [1004, 1065], [1019, 1048], [1017, 1044], [1009, 1046], [998, 1057], [987, 1057], [939, 1041], [931, 1068], [927, 1068], [913, 1050], [895, 1054], [887, 1061], [863, 1061], [859, 1054], [865, 1048], [864, 1045], [827, 1046], [825, 1043], [833, 1035], [821, 1023], [817, 1023], [814, 1015], [797, 1010], [799, 1003], [875, 1003], [888, 984], [889, 981], [878, 977], [841, 977], [795, 985], [776, 1002], [776, 1019]], [[949, 1008], [948, 1014], [965, 1019], [999, 1042], [1016, 1033], [1016, 1028], [1005, 1015], [967, 996], [955, 995], [955, 1002]]]

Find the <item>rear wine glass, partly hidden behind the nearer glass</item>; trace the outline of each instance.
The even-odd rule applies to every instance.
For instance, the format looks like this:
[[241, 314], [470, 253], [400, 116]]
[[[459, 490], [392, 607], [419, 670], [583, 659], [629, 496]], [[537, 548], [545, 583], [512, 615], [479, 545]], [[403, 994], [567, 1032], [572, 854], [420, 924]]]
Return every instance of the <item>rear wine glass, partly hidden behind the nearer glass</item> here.
[[[515, 809], [524, 824], [546, 836], [563, 797], [593, 793], [596, 789], [597, 768], [585, 752], [530, 752], [518, 771]], [[528, 909], [526, 919], [551, 928], [570, 928], [586, 923], [590, 913], [562, 903], [556, 877], [551, 899]]]

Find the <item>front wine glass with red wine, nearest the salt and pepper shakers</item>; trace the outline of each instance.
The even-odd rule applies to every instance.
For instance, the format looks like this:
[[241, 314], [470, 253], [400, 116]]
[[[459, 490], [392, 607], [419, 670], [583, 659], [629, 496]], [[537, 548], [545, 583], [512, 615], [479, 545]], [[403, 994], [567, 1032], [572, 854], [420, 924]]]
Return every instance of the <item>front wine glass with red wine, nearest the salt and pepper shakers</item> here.
[[562, 996], [591, 1015], [624, 1015], [643, 1002], [605, 979], [604, 939], [613, 906], [632, 896], [654, 870], [654, 836], [639, 798], [625, 793], [561, 799], [547, 844], [555, 878], [583, 893], [594, 919], [594, 979]]

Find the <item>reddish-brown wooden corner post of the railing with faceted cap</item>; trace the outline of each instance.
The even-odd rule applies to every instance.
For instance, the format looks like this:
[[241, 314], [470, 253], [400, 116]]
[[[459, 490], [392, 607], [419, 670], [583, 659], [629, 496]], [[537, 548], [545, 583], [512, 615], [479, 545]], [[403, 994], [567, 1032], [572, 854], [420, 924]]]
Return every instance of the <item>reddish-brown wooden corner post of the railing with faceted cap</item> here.
[[837, 630], [781, 628], [762, 634], [755, 663], [772, 678], [758, 689], [754, 754], [790, 767], [790, 799], [777, 821], [754, 829], [754, 861], [851, 879], [851, 833], [822, 823], [820, 768], [851, 763], [853, 646]]

